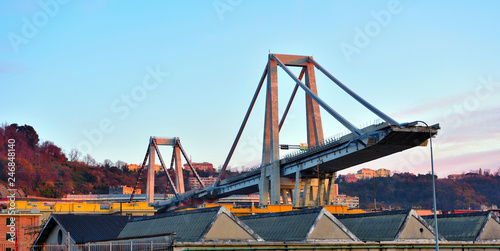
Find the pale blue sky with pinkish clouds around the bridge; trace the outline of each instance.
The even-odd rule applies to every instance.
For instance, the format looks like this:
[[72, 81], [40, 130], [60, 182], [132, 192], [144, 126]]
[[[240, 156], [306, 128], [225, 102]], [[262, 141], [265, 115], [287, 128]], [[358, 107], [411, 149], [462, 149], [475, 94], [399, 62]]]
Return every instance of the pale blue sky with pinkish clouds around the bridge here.
[[[307, 55], [396, 121], [439, 123], [439, 177], [496, 171], [499, 10], [498, 1], [1, 1], [0, 122], [31, 125], [41, 140], [98, 162], [140, 163], [150, 136], [179, 137], [192, 161], [219, 167], [268, 54]], [[378, 119], [316, 77], [319, 96], [352, 124]], [[281, 114], [294, 82], [283, 70], [278, 81]], [[233, 169], [261, 161], [262, 96]], [[307, 141], [304, 102], [299, 91], [281, 144]], [[325, 137], [347, 131], [321, 112]], [[429, 150], [340, 173], [429, 173]]]

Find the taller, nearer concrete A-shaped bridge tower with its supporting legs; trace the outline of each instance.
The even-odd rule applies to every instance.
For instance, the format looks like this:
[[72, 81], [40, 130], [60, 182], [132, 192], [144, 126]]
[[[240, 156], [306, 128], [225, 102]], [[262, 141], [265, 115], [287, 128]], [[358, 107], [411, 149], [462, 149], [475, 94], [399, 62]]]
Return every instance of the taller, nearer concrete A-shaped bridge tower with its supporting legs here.
[[[278, 62], [281, 67], [287, 70], [286, 66], [301, 67], [305, 73], [306, 91], [306, 125], [307, 144], [309, 148], [319, 147], [324, 143], [323, 126], [319, 101], [313, 98], [318, 95], [315, 76], [315, 64], [312, 57], [269, 54], [267, 64], [267, 91], [266, 91], [266, 111], [264, 122], [264, 140], [262, 152], [261, 179], [259, 184], [260, 205], [286, 204], [288, 203], [287, 191], [284, 191], [280, 184], [280, 160], [279, 160], [279, 118], [278, 118]], [[301, 74], [302, 74], [301, 73]], [[292, 74], [293, 75], [293, 74]], [[302, 75], [301, 75], [302, 76]], [[301, 78], [301, 77], [299, 77]], [[263, 81], [263, 80], [262, 80]], [[300, 82], [300, 80], [297, 80]], [[300, 83], [297, 83], [299, 86]], [[297, 88], [297, 87], [296, 87]], [[294, 92], [295, 94], [295, 92]], [[294, 95], [293, 94], [293, 95]], [[291, 100], [293, 100], [293, 95]], [[290, 101], [291, 102], [291, 101]], [[324, 108], [324, 107], [323, 107]], [[287, 107], [288, 111], [288, 107]], [[286, 116], [286, 112], [285, 115]], [[318, 162], [319, 164], [319, 162]], [[319, 169], [319, 167], [318, 167]], [[317, 171], [319, 172], [319, 170]], [[302, 179], [304, 185], [302, 185]], [[332, 201], [332, 187], [335, 181], [335, 173], [323, 174], [323, 177], [301, 177], [300, 171], [295, 175], [295, 187], [290, 193], [292, 205], [298, 206], [319, 206], [329, 205]], [[303, 188], [302, 188], [303, 187]], [[302, 200], [300, 191], [303, 190]]]

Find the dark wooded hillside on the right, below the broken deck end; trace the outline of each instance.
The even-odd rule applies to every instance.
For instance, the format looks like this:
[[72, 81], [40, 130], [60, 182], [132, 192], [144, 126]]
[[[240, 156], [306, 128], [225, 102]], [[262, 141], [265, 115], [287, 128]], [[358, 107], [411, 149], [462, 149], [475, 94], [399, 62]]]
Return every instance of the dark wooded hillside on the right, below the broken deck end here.
[[[358, 180], [355, 183], [343, 182], [337, 178], [339, 193], [358, 196], [360, 207], [373, 208], [374, 190], [377, 207], [392, 208], [432, 208], [432, 176], [394, 174], [387, 178]], [[500, 205], [500, 174], [477, 175], [460, 180], [436, 180], [437, 208], [480, 209], [481, 205]]]

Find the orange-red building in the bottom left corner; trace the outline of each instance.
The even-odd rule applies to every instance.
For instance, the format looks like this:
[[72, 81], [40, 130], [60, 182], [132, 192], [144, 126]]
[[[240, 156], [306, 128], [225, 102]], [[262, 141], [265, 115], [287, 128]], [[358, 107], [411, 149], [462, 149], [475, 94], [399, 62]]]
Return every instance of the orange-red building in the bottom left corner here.
[[[0, 248], [2, 250], [29, 250], [31, 243], [37, 237], [40, 229], [40, 216], [42, 214], [37, 210], [31, 210], [32, 213], [9, 214], [2, 210], [0, 213]], [[20, 245], [15, 248], [15, 244]]]

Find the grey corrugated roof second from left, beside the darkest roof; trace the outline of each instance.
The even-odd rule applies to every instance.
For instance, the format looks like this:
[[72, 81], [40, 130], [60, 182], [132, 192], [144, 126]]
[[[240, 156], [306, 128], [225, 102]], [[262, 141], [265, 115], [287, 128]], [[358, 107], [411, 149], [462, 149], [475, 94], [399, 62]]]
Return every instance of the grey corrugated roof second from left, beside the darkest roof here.
[[220, 209], [205, 208], [133, 219], [118, 238], [175, 233], [177, 241], [199, 241]]

